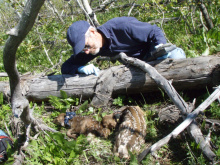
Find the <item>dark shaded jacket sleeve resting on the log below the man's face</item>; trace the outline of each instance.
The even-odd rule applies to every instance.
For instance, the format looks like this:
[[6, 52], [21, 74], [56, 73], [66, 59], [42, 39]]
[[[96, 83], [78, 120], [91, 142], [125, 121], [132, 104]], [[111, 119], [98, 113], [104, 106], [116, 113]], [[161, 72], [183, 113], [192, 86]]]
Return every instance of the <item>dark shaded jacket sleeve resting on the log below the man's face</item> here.
[[91, 54], [79, 53], [77, 55], [72, 55], [69, 59], [67, 59], [62, 67], [61, 73], [62, 74], [76, 74], [78, 68], [80, 66], [86, 65], [89, 61], [93, 60], [95, 57]]

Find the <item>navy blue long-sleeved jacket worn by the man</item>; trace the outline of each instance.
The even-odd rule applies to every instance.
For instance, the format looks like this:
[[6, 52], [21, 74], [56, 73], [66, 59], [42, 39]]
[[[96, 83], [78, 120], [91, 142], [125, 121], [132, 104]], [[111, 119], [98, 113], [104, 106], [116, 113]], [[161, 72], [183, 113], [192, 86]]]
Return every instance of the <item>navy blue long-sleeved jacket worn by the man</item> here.
[[165, 44], [166, 39], [157, 25], [140, 22], [134, 17], [117, 17], [99, 26], [97, 30], [108, 40], [108, 45], [97, 55], [79, 53], [72, 55], [62, 65], [62, 74], [75, 74], [80, 66], [86, 65], [97, 56], [114, 56], [120, 52], [143, 59], [155, 45]]

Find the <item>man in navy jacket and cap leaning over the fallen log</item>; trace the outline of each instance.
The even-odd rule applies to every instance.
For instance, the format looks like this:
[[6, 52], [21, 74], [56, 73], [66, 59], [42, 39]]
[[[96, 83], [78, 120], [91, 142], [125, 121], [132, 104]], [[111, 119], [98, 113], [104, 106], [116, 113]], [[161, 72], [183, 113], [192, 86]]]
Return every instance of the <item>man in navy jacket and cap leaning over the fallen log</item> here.
[[[67, 30], [67, 40], [73, 47], [72, 55], [62, 65], [62, 74], [84, 73], [98, 75], [93, 64], [86, 65], [97, 56], [114, 56], [120, 52], [144, 61], [155, 60], [152, 52], [166, 44], [162, 30], [134, 17], [117, 17], [97, 29], [86, 21], [74, 22]], [[186, 58], [181, 48], [156, 59]]]

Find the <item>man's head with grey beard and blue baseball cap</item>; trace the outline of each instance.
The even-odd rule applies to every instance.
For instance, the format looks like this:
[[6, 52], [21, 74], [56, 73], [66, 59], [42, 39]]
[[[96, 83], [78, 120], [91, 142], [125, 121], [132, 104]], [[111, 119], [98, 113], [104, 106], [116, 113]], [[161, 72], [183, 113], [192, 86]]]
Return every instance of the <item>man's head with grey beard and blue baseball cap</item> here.
[[75, 55], [84, 51], [96, 55], [102, 47], [102, 36], [86, 21], [74, 22], [67, 30], [67, 40]]

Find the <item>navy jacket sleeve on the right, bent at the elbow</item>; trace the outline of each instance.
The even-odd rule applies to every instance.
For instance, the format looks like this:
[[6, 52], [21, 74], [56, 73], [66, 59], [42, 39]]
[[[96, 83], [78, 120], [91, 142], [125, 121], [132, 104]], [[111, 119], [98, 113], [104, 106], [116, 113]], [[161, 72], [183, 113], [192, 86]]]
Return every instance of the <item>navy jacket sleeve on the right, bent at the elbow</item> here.
[[147, 22], [141, 22], [133, 19], [128, 22], [128, 33], [139, 42], [154, 42], [155, 45], [165, 44], [166, 38], [163, 31], [157, 25], [151, 25]]

